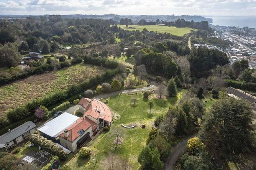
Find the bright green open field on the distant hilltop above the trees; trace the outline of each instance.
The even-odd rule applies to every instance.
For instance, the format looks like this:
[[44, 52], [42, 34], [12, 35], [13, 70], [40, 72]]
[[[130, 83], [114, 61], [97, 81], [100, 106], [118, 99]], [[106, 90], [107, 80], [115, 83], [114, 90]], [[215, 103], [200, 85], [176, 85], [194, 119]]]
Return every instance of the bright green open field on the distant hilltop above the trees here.
[[117, 25], [117, 27], [120, 27], [122, 29], [126, 30], [139, 30], [142, 31], [144, 28], [147, 28], [148, 31], [154, 31], [158, 33], [170, 33], [172, 35], [178, 35], [182, 36], [184, 34], [190, 33], [191, 30], [197, 31], [198, 29], [195, 28], [189, 28], [189, 27], [167, 27], [167, 26], [159, 26], [159, 25], [128, 25], [128, 27], [132, 28], [127, 28], [125, 25]]

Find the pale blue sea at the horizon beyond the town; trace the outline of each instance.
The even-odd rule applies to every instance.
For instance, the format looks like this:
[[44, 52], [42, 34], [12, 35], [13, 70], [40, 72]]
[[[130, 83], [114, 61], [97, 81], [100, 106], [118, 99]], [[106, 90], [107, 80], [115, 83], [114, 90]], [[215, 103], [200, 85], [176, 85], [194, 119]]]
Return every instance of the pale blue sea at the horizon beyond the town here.
[[256, 28], [256, 16], [205, 16], [212, 18], [212, 25]]

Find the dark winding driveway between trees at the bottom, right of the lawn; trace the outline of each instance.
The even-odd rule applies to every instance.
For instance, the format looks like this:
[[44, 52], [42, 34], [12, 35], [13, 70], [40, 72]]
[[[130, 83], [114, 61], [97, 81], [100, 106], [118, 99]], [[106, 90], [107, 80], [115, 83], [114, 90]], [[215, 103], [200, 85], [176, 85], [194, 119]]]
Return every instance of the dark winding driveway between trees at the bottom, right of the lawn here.
[[187, 151], [187, 142], [189, 139], [196, 135], [190, 136], [189, 138], [181, 141], [179, 144], [172, 148], [172, 153], [168, 156], [164, 164], [164, 170], [174, 170], [175, 162], [178, 158]]

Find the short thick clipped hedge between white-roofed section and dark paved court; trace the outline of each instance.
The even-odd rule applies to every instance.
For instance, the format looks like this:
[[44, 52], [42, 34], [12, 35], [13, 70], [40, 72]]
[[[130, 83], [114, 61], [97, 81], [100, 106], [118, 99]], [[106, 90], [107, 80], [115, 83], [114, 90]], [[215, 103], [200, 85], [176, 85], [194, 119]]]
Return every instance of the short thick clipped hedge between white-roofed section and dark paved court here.
[[37, 147], [41, 146], [41, 148], [52, 155], [58, 156], [61, 160], [67, 159], [67, 153], [61, 149], [56, 143], [44, 138], [43, 136], [39, 136], [38, 134], [32, 134], [29, 136], [29, 140], [31, 143], [34, 143]]

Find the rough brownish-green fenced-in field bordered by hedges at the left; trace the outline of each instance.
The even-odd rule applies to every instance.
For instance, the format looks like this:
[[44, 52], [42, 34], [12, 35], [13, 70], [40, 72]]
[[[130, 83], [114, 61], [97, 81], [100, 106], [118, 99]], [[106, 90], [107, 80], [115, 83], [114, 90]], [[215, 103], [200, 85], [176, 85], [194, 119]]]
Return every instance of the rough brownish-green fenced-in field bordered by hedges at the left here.
[[[56, 72], [32, 75], [26, 79], [0, 87], [0, 113], [26, 104], [31, 99], [68, 89], [71, 84], [101, 74], [105, 68], [88, 64], [77, 64]], [[82, 74], [82, 72], [84, 74]]]

